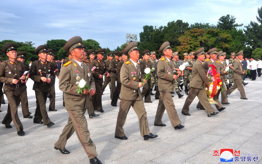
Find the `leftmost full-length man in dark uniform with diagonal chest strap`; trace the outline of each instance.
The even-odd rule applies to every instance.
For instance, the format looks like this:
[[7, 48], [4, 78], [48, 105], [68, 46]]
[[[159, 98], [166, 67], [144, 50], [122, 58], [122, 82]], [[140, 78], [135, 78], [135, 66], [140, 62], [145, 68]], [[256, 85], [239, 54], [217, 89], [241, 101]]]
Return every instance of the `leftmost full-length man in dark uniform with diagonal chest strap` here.
[[23, 62], [15, 60], [17, 58], [16, 50], [17, 46], [14, 43], [6, 43], [2, 49], [2, 52], [6, 53], [9, 59], [0, 64], [0, 81], [4, 83], [4, 94], [6, 94], [10, 105], [2, 124], [4, 124], [6, 128], [12, 128], [10, 123], [13, 121], [17, 129], [17, 134], [24, 135], [23, 125], [17, 114], [17, 106], [20, 95], [23, 93], [20, 80], [25, 80], [25, 76], [22, 76], [25, 71], [25, 66]]

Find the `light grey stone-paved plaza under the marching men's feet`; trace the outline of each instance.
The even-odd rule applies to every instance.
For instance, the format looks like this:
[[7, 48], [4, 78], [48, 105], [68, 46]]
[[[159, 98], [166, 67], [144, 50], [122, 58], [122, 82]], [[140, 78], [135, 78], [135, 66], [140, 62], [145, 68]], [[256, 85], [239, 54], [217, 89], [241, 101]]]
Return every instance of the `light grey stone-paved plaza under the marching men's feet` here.
[[[140, 135], [138, 118], [132, 107], [128, 113], [124, 126], [128, 140], [114, 138], [118, 107], [110, 105], [110, 91], [107, 86], [102, 96], [104, 113], [99, 117], [89, 118], [86, 112], [91, 139], [96, 145], [98, 158], [102, 163], [220, 163], [220, 156], [213, 156], [215, 150], [233, 149], [240, 151], [239, 158], [245, 161], [233, 163], [262, 163], [262, 78], [250, 81], [244, 87], [248, 100], [240, 99], [240, 93], [235, 90], [228, 101], [230, 105], [224, 105], [226, 109], [216, 116], [207, 117], [206, 112], [196, 109], [197, 97], [190, 106], [191, 116], [181, 114], [186, 99], [178, 99], [173, 94], [173, 100], [178, 111], [179, 118], [185, 128], [174, 130], [165, 112], [163, 123], [166, 127], [154, 126], [158, 100], [151, 96], [153, 103], [145, 103], [149, 128], [155, 139], [145, 141]], [[29, 80], [28, 101], [29, 111], [34, 116], [35, 93], [32, 91], [33, 81]], [[6, 129], [0, 124], [0, 163], [42, 163], [42, 164], [65, 164], [65, 163], [89, 163], [89, 158], [81, 147], [75, 134], [67, 141], [66, 149], [70, 154], [64, 155], [54, 149], [54, 143], [58, 140], [62, 129], [67, 123], [68, 113], [63, 107], [62, 92], [58, 89], [56, 80], [56, 109], [57, 112], [47, 111], [49, 118], [55, 123], [50, 128], [42, 124], [34, 124], [33, 119], [23, 118], [21, 106], [18, 108], [19, 118], [24, 126], [25, 135], [18, 136], [13, 122], [12, 129]], [[155, 91], [154, 91], [155, 92]], [[5, 97], [7, 102], [7, 99]], [[72, 102], [77, 103], [77, 102]], [[47, 109], [49, 99], [47, 99]], [[215, 105], [212, 105], [215, 108]], [[1, 106], [0, 122], [7, 112], [7, 103]], [[216, 110], [217, 112], [217, 110]], [[256, 156], [244, 156], [243, 154], [256, 154]], [[251, 157], [251, 161], [247, 161]], [[222, 162], [221, 162], [222, 163]], [[231, 162], [232, 163], [232, 162]]]

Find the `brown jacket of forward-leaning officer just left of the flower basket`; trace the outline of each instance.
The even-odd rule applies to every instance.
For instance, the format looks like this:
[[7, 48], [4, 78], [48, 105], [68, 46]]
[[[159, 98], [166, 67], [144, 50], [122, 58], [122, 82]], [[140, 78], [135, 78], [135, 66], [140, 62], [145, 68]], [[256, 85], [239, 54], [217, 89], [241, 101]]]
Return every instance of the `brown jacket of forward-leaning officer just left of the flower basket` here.
[[190, 79], [190, 87], [203, 89], [204, 83], [208, 84], [209, 80], [204, 71], [203, 64], [197, 59], [192, 68], [192, 75]]

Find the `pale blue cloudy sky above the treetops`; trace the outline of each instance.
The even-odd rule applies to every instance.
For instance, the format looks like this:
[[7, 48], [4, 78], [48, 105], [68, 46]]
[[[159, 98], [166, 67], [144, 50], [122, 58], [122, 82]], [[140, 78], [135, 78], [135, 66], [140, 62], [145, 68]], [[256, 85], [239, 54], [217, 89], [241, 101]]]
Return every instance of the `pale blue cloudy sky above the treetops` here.
[[230, 14], [245, 26], [256, 21], [261, 4], [259, 0], [1, 0], [0, 41], [32, 41], [37, 47], [47, 40], [81, 36], [113, 50], [125, 43], [126, 33], [139, 37], [144, 25], [166, 26], [177, 19], [189, 25], [216, 25], [222, 15]]

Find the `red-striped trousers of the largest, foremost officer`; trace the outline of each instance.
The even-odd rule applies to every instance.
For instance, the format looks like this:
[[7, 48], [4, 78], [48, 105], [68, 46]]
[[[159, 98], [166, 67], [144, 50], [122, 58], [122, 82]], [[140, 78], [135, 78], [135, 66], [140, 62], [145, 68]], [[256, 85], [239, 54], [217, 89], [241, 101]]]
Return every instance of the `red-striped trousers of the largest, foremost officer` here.
[[67, 110], [69, 117], [62, 134], [54, 144], [59, 149], [65, 150], [65, 144], [71, 135], [75, 132], [77, 138], [88, 155], [89, 159], [97, 157], [96, 146], [90, 138], [90, 133], [85, 118], [85, 110]]

